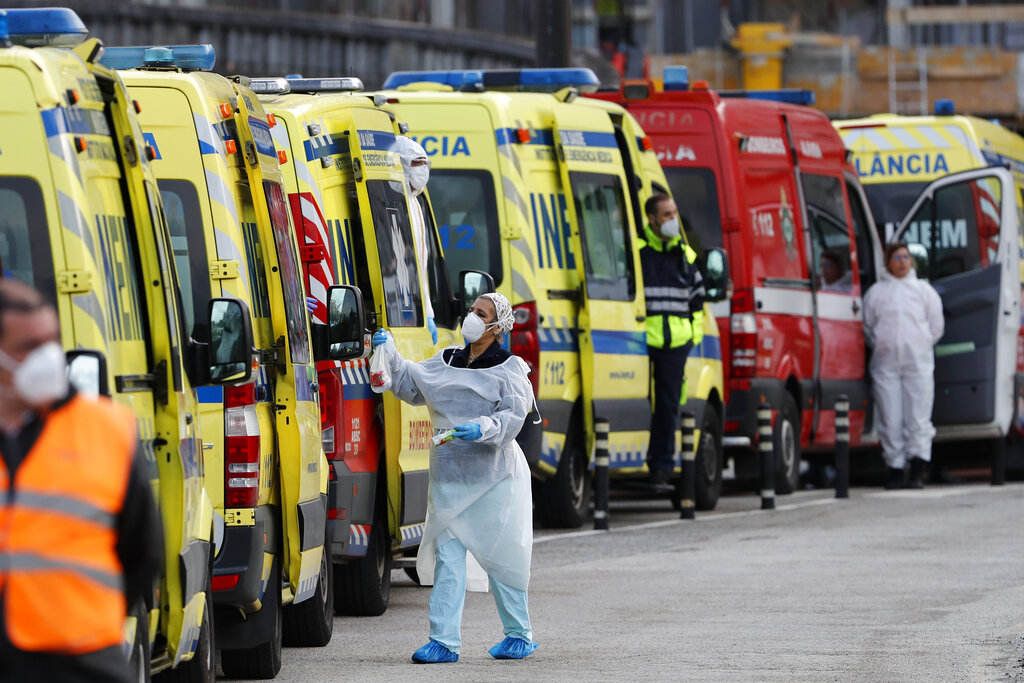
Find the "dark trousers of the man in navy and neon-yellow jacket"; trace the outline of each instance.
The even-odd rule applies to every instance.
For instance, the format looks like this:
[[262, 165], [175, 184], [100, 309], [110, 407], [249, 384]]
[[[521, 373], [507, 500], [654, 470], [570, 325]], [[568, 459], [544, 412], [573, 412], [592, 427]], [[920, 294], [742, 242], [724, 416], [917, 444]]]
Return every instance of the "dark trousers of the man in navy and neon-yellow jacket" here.
[[678, 348], [647, 347], [650, 376], [654, 380], [654, 414], [650, 418], [650, 445], [647, 447], [647, 468], [651, 473], [673, 469], [679, 399], [686, 377], [686, 357], [691, 348], [692, 342]]

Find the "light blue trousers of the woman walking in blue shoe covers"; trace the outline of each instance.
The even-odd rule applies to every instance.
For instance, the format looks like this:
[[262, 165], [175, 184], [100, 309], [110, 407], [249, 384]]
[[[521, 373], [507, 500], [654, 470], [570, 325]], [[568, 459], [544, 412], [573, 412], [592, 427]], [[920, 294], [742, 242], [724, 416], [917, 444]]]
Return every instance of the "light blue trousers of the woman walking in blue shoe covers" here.
[[[444, 531], [434, 550], [434, 587], [430, 591], [430, 640], [453, 652], [462, 648], [462, 608], [466, 603], [466, 547]], [[526, 591], [488, 577], [505, 635], [532, 642]]]

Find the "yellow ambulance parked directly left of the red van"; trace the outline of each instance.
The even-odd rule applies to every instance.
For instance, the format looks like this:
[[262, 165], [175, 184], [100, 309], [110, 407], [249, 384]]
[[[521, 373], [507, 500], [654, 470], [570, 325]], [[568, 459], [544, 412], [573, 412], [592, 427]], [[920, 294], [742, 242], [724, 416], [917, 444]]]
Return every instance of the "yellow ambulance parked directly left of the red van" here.
[[[381, 93], [431, 159], [450, 273], [489, 272], [513, 304], [510, 350], [531, 369], [543, 419], [527, 421], [519, 442], [538, 477], [537, 511], [553, 526], [586, 516], [595, 418], [609, 421], [612, 476], [646, 472], [650, 372], [637, 241], [644, 201], [669, 185], [628, 112], [578, 97], [597, 85], [589, 70], [403, 72]], [[701, 428], [698, 488], [713, 507], [722, 364], [714, 318], [705, 319], [706, 342], [687, 365], [687, 408]]]

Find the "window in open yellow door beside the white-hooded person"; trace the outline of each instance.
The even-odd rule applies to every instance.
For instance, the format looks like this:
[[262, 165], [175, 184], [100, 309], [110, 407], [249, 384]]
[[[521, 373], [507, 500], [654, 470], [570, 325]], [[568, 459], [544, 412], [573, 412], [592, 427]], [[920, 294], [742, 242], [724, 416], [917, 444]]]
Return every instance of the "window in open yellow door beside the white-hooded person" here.
[[390, 180], [368, 180], [367, 194], [377, 237], [387, 324], [420, 327], [423, 325], [423, 305], [404, 187]]

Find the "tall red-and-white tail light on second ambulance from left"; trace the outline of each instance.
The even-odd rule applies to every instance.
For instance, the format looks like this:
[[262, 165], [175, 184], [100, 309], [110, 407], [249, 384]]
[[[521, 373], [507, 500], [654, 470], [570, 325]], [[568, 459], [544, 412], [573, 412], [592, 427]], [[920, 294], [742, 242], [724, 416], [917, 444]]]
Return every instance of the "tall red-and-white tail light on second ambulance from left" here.
[[259, 466], [256, 384], [224, 387], [224, 507], [256, 507]]

